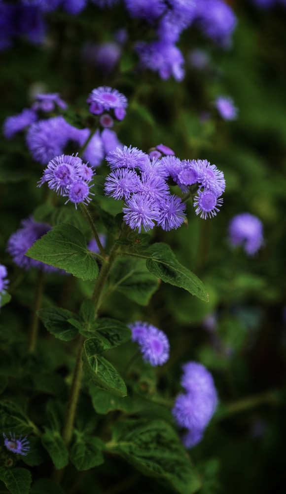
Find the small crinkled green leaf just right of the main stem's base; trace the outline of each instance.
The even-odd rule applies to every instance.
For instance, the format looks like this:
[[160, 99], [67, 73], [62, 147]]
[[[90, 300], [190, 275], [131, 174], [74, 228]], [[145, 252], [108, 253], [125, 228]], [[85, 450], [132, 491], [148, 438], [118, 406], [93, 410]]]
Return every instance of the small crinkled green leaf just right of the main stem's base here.
[[89, 470], [104, 462], [101, 450], [104, 443], [97, 437], [75, 433], [70, 449], [70, 459], [79, 471]]

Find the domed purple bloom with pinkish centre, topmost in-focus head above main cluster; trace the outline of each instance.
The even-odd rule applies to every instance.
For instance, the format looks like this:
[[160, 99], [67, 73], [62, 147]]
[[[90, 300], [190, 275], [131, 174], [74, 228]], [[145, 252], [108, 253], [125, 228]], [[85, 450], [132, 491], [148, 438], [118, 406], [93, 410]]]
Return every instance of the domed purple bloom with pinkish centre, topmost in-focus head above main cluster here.
[[[117, 89], [109, 86], [93, 89], [86, 102], [90, 104], [89, 110], [94, 115], [101, 115], [104, 110], [113, 110], [117, 120], [123, 120], [126, 115], [127, 98]], [[110, 124], [105, 126], [108, 127]]]

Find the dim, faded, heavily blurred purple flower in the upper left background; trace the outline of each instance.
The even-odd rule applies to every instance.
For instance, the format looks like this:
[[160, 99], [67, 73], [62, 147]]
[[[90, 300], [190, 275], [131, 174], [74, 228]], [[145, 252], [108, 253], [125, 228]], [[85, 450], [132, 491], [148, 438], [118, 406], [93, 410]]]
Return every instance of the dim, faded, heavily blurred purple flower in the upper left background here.
[[83, 51], [83, 57], [95, 65], [103, 74], [110, 74], [121, 57], [122, 48], [114, 41], [101, 44], [87, 44]]

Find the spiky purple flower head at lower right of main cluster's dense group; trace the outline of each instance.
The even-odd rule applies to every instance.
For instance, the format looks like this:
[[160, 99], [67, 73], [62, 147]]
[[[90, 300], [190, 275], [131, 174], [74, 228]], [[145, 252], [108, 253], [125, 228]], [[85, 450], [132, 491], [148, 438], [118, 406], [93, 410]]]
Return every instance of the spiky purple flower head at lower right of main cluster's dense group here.
[[177, 196], [167, 196], [158, 201], [159, 219], [158, 226], [163, 230], [177, 229], [184, 222], [186, 215], [185, 204]]

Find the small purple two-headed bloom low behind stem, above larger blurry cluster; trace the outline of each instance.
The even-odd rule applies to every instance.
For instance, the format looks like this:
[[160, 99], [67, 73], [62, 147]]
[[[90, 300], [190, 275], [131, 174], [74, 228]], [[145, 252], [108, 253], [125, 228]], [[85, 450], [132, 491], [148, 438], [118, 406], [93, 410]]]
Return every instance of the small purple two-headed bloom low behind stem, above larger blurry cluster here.
[[161, 366], [169, 359], [170, 344], [166, 334], [142, 321], [131, 324], [132, 341], [139, 343], [143, 360], [151, 366]]

